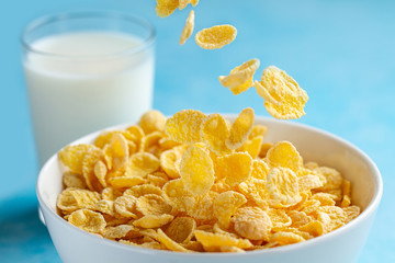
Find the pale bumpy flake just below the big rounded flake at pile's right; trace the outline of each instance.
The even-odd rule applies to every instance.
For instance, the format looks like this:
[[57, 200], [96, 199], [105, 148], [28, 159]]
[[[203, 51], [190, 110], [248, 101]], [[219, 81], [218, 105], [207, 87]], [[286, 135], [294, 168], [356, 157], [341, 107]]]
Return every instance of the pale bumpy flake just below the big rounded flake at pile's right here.
[[267, 190], [270, 205], [276, 208], [289, 207], [302, 201], [296, 174], [287, 168], [273, 168], [268, 174]]

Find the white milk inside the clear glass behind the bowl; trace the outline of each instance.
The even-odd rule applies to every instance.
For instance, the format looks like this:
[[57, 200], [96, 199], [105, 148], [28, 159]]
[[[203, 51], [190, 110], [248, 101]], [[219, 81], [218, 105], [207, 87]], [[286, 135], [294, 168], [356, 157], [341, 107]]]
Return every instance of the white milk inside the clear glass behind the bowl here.
[[33, 43], [35, 50], [56, 54], [29, 53], [24, 61], [40, 165], [78, 137], [134, 123], [151, 107], [153, 48], [127, 53], [140, 42], [81, 32]]

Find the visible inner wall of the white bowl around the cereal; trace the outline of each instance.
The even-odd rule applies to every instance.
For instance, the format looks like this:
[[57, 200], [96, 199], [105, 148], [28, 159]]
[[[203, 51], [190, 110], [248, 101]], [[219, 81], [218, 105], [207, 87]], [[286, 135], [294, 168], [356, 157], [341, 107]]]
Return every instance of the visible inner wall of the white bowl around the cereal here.
[[[234, 115], [227, 118], [233, 121]], [[345, 179], [351, 181], [352, 201], [362, 210], [377, 198], [381, 192], [380, 172], [372, 160], [353, 145], [326, 132], [296, 123], [256, 117], [256, 124], [268, 126], [264, 141], [289, 140], [295, 145], [304, 161], [315, 161], [340, 171]], [[109, 129], [123, 128], [116, 126]], [[92, 142], [98, 133], [82, 137], [72, 144]], [[57, 156], [53, 156], [43, 167], [37, 181], [37, 195], [41, 205], [47, 206], [56, 214], [56, 198], [63, 190], [61, 170]]]

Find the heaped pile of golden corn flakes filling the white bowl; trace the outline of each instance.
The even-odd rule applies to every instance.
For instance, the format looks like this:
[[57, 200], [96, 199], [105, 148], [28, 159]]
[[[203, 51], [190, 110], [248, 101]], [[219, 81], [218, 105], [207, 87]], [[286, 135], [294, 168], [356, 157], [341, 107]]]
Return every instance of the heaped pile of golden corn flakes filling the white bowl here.
[[360, 214], [350, 182], [304, 163], [290, 141], [263, 142], [251, 108], [230, 123], [184, 110], [100, 134], [59, 153], [57, 207], [74, 226], [179, 252], [269, 249], [330, 232]]

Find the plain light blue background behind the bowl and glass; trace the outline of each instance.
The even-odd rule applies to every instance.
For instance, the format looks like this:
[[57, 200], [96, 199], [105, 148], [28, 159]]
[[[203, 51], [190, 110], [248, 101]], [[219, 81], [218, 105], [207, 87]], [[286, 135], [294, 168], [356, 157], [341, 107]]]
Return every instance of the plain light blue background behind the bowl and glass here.
[[[195, 28], [230, 23], [237, 39], [205, 50], [178, 45], [189, 9], [167, 19], [155, 0], [12, 0], [0, 9], [0, 262], [59, 262], [38, 221], [34, 140], [20, 62], [19, 36], [33, 19], [70, 10], [117, 10], [148, 19], [157, 28], [154, 106], [235, 113], [246, 106], [268, 115], [251, 89], [234, 96], [218, 81], [257, 57], [275, 65], [308, 92], [297, 122], [329, 130], [364, 150], [379, 165], [384, 196], [359, 262], [395, 262], [395, 1], [201, 0]], [[317, 259], [319, 261], [319, 259]]]

